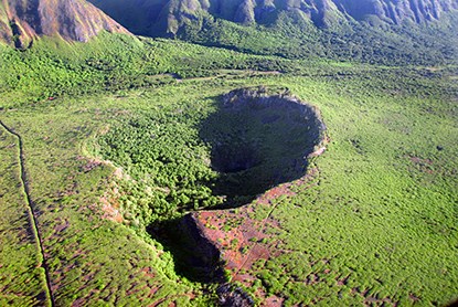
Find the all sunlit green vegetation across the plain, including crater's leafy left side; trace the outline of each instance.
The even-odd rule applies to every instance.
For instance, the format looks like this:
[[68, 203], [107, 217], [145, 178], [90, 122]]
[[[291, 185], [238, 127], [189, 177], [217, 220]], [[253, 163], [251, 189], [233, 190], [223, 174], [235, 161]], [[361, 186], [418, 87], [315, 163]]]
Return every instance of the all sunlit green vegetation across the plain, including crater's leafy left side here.
[[[260, 85], [319, 107], [331, 142], [309, 166], [313, 184], [249, 204], [254, 220], [276, 221], [253, 243], [279, 254], [255, 263], [245, 289], [286, 306], [457, 298], [456, 66], [306, 62], [123, 35], [0, 47], [0, 119], [23, 140], [57, 305], [216, 304], [214, 286], [177, 274], [146, 226], [221, 203], [207, 184], [220, 178], [209, 136], [236, 130], [219, 97]], [[257, 135], [256, 117], [239, 118]], [[286, 146], [266, 141], [267, 151]], [[1, 130], [0, 304], [43, 305], [17, 146]]]

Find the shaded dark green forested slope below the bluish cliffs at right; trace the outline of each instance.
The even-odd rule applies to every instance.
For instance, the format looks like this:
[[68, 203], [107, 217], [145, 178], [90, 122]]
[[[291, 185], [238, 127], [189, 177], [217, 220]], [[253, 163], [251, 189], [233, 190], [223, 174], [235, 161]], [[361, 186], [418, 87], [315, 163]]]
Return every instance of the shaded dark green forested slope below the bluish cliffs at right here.
[[[303, 17], [283, 12], [275, 24], [241, 25], [204, 18], [203, 27], [187, 25], [178, 36], [191, 42], [286, 59], [332, 59], [381, 65], [440, 65], [456, 62], [457, 15], [432, 24], [369, 25], [350, 22], [319, 29]], [[305, 35], [303, 33], [307, 33]], [[253, 40], [253, 38], [257, 38]]]

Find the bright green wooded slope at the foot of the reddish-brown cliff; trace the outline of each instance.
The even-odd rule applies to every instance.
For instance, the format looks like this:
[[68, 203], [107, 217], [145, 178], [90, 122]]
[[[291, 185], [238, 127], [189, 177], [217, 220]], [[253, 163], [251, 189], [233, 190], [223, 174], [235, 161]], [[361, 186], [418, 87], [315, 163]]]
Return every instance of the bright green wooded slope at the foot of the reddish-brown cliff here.
[[0, 93], [11, 94], [3, 98], [3, 106], [174, 82], [167, 74], [181, 78], [213, 75], [215, 70], [277, 71], [297, 66], [278, 57], [107, 33], [87, 44], [43, 38], [23, 52], [2, 45], [0, 50]]

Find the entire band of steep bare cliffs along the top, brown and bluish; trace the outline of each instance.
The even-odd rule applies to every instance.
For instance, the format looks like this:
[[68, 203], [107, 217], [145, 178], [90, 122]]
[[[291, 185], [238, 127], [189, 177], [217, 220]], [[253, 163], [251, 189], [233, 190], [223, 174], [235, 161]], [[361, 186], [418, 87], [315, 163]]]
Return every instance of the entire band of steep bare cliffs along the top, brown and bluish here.
[[[200, 28], [203, 15], [274, 23], [292, 12], [317, 27], [376, 18], [388, 24], [424, 23], [458, 10], [456, 0], [89, 0], [137, 34], [173, 35], [184, 24]], [[26, 47], [40, 35], [85, 42], [99, 31], [127, 33], [86, 0], [0, 0], [0, 41]]]

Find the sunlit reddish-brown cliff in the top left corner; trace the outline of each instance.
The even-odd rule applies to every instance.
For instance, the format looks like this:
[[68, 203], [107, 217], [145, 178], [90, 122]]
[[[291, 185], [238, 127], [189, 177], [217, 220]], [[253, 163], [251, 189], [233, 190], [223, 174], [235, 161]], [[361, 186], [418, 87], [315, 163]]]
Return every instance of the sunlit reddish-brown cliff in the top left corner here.
[[85, 0], [1, 0], [0, 40], [17, 47], [40, 35], [86, 42], [102, 30], [128, 33]]

